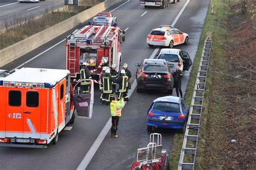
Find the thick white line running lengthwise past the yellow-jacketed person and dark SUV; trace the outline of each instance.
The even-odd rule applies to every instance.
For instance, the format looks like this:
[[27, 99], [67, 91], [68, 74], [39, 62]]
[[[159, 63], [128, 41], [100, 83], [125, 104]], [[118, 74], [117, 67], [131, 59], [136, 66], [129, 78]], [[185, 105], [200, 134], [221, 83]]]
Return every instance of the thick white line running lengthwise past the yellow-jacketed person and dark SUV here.
[[[187, 6], [188, 2], [190, 2], [190, 0], [187, 0], [187, 2], [184, 5], [185, 7]], [[181, 11], [179, 12], [179, 14], [177, 15], [177, 17], [174, 19], [174, 22], [172, 23], [173, 26], [177, 23], [179, 17], [181, 16], [181, 13], [184, 11], [184, 9], [185, 9], [184, 6], [181, 9]], [[150, 55], [150, 59], [153, 59], [154, 56], [156, 56], [159, 49], [160, 49], [159, 47], [154, 49], [153, 53]], [[132, 83], [132, 86], [131, 86], [131, 90], [128, 93], [129, 97], [131, 96], [131, 94], [133, 93], [133, 91], [136, 87], [137, 87], [137, 82], [136, 82], [136, 80], [134, 80], [134, 82]], [[126, 102], [125, 102], [125, 104], [126, 104]], [[79, 166], [77, 167], [77, 170], [85, 169], [89, 165], [93, 155], [95, 155], [95, 153], [98, 150], [100, 144], [102, 144], [102, 141], [104, 140], [106, 134], [109, 132], [110, 128], [111, 128], [111, 118], [109, 119], [109, 121], [107, 121], [103, 130], [99, 133], [99, 136], [97, 137], [97, 139], [94, 141], [94, 143], [90, 147], [90, 150], [86, 153], [82, 162], [80, 162]]]

